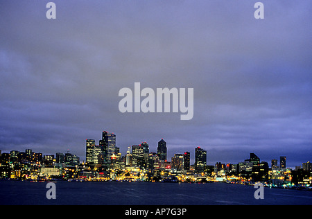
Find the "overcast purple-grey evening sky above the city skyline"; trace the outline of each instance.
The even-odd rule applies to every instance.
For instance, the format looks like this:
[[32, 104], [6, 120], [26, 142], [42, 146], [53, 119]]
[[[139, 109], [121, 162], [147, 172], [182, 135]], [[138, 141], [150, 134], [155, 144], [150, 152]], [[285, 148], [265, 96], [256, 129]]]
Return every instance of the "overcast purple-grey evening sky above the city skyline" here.
[[[312, 3], [0, 1], [0, 150], [85, 159], [85, 139], [116, 134], [207, 163], [286, 155], [312, 161]], [[119, 112], [123, 87], [194, 89], [194, 116]]]

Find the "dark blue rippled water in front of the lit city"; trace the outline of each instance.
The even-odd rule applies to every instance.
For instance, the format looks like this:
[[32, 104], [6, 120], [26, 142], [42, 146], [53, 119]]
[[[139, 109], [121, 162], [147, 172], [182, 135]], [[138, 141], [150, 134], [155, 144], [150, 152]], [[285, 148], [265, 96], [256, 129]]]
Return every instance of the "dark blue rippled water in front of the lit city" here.
[[0, 182], [0, 204], [101, 205], [311, 205], [311, 191], [264, 188], [254, 199], [252, 186], [236, 184], [171, 184], [128, 182], [56, 182], [56, 200], [46, 198], [45, 182]]

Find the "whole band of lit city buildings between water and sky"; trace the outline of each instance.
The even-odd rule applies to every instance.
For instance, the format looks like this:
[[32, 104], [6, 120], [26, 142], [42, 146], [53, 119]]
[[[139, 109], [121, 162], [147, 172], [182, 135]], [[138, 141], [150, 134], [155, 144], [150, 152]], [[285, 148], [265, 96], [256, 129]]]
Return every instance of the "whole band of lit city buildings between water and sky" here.
[[308, 161], [295, 170], [286, 168], [286, 157], [281, 156], [279, 164], [272, 159], [261, 161], [250, 153], [249, 159], [239, 164], [216, 163], [207, 165], [207, 150], [195, 148], [195, 162], [191, 164], [191, 152], [175, 154], [168, 161], [166, 141], [158, 142], [157, 152], [150, 152], [148, 143], [142, 142], [128, 148], [121, 155], [116, 147], [116, 134], [102, 132], [96, 144], [86, 139], [86, 160], [67, 152], [55, 155], [12, 150], [0, 151], [0, 178], [27, 180], [118, 180], [127, 182], [266, 182], [268, 184], [311, 184], [312, 169]]

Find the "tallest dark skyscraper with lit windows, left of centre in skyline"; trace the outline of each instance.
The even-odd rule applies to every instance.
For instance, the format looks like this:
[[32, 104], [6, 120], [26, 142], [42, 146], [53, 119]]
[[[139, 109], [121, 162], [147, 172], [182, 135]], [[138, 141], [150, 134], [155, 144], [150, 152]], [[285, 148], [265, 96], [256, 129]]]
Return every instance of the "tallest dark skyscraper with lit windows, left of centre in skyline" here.
[[102, 132], [102, 140], [100, 140], [100, 147], [104, 154], [105, 164], [110, 164], [111, 157], [116, 152], [116, 134], [110, 132]]

